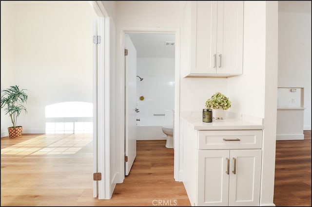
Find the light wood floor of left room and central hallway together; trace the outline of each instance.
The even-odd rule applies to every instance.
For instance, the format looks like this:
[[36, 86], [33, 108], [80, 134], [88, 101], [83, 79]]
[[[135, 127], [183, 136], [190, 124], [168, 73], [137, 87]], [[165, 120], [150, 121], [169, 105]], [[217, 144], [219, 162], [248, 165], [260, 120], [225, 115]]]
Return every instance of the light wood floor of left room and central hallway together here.
[[92, 157], [91, 135], [1, 138], [1, 206], [190, 206], [165, 140], [137, 141], [131, 172], [110, 200], [92, 197]]

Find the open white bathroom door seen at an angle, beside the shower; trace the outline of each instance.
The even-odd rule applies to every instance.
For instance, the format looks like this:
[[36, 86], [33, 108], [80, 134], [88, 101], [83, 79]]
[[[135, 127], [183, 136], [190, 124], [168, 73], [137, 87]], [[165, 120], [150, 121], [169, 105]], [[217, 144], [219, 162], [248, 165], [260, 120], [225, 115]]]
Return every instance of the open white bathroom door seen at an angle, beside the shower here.
[[137, 155], [137, 50], [125, 35], [125, 175], [130, 173]]

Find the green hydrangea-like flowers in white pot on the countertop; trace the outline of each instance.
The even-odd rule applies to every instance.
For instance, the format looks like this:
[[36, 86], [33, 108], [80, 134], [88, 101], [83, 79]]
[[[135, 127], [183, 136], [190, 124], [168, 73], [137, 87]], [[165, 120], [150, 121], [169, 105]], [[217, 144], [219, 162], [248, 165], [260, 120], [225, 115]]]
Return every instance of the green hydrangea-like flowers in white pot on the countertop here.
[[228, 97], [223, 95], [220, 92], [216, 92], [211, 96], [210, 99], [206, 101], [206, 108], [213, 109], [213, 119], [223, 119], [224, 118], [224, 110], [228, 110], [231, 108], [231, 101]]

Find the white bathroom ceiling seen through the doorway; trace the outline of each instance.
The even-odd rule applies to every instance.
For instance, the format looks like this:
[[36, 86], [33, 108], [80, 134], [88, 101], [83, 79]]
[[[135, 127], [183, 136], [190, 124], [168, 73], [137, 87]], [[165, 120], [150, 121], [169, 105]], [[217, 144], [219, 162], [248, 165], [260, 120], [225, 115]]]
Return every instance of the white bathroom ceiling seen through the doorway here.
[[165, 45], [175, 42], [174, 34], [129, 33], [137, 50], [138, 58], [175, 58], [175, 46]]

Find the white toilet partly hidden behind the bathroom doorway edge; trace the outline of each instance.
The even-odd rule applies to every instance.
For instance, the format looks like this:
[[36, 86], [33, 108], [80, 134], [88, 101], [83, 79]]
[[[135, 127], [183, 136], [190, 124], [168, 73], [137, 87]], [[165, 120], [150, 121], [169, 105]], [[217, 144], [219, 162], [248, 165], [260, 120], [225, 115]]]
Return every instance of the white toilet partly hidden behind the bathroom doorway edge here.
[[167, 135], [166, 147], [174, 148], [174, 110], [165, 110], [165, 125], [161, 127], [162, 132]]

